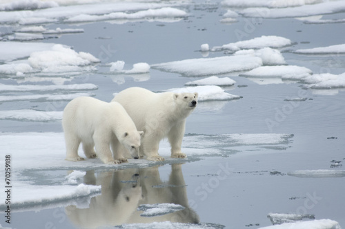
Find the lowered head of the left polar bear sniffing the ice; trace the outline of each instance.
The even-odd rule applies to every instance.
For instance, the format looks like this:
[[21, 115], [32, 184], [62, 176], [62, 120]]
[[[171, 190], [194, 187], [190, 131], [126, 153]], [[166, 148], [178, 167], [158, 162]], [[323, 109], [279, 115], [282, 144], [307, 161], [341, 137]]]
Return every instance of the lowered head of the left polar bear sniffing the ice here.
[[130, 156], [139, 159], [140, 139], [144, 131], [125, 132], [121, 137], [122, 145], [130, 152]]

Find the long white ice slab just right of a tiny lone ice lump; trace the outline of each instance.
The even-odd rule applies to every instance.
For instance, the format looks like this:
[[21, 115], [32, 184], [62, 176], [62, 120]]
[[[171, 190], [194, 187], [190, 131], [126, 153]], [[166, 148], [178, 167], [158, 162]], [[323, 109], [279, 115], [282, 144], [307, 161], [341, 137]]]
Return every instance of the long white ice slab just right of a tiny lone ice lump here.
[[237, 41], [235, 43], [228, 43], [223, 46], [215, 46], [212, 48], [213, 51], [219, 50], [230, 50], [238, 51], [241, 49], [259, 49], [259, 48], [282, 48], [284, 46], [290, 46], [292, 42], [284, 37], [277, 36], [262, 36], [255, 37], [254, 39], [246, 41]]

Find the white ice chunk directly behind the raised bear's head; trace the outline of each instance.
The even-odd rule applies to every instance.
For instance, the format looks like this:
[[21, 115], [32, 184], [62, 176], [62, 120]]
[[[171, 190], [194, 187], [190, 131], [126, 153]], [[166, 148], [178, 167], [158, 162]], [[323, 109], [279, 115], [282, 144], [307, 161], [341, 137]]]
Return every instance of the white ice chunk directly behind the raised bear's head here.
[[175, 93], [194, 93], [199, 94], [198, 101], [221, 101], [221, 100], [233, 100], [240, 99], [241, 97], [234, 94], [229, 94], [221, 89], [219, 86], [196, 86], [196, 87], [187, 87], [187, 88], [172, 88], [166, 90], [168, 92]]

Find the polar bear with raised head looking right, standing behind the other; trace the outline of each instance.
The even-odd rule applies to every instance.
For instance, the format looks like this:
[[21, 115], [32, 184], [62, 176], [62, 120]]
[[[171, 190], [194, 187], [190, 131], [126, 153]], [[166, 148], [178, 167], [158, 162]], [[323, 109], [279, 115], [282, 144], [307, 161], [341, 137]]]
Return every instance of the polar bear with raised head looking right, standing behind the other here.
[[195, 93], [154, 93], [144, 88], [128, 88], [115, 95], [139, 130], [144, 130], [140, 155], [151, 161], [164, 161], [159, 156], [159, 141], [168, 137], [171, 157], [187, 157], [181, 152], [186, 118], [197, 106]]

